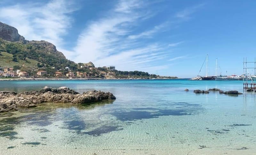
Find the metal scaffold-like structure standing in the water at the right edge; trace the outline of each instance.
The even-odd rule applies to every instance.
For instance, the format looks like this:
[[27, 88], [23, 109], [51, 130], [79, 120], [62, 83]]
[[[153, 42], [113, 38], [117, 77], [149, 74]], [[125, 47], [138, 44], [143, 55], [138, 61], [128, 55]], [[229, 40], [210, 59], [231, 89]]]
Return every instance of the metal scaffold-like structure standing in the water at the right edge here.
[[[244, 89], [256, 89], [256, 57], [254, 61], [247, 61], [247, 58], [244, 59], [244, 74], [242, 76]], [[253, 66], [254, 64], [254, 66]], [[254, 69], [254, 75], [248, 71], [248, 69]]]

